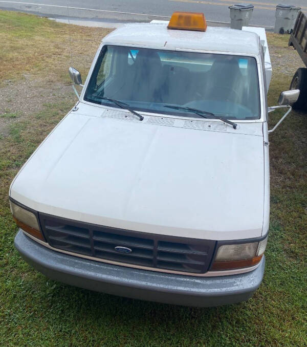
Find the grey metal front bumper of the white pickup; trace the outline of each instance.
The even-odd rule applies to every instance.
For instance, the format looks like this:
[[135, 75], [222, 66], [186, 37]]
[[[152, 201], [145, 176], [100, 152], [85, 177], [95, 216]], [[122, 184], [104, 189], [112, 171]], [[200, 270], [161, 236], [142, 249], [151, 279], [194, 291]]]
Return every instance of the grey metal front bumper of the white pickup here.
[[260, 286], [265, 270], [265, 257], [251, 272], [221, 277], [140, 270], [56, 252], [21, 230], [15, 237], [15, 247], [27, 263], [54, 280], [107, 294], [184, 306], [210, 307], [247, 300]]

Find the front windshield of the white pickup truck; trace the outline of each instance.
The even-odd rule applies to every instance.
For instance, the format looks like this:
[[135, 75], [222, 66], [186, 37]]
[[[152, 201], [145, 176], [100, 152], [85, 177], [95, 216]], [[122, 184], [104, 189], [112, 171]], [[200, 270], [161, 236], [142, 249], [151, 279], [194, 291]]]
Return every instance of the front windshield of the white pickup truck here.
[[144, 112], [200, 117], [166, 107], [175, 105], [227, 119], [260, 118], [257, 63], [246, 56], [103, 46], [84, 99], [111, 104], [103, 98]]

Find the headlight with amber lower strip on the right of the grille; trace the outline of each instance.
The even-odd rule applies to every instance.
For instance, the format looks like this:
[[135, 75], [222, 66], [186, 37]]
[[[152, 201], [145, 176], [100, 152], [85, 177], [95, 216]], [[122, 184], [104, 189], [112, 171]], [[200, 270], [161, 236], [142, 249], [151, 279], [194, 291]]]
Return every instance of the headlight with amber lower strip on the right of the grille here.
[[268, 236], [260, 242], [221, 245], [211, 270], [232, 270], [257, 265], [266, 250]]

